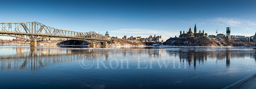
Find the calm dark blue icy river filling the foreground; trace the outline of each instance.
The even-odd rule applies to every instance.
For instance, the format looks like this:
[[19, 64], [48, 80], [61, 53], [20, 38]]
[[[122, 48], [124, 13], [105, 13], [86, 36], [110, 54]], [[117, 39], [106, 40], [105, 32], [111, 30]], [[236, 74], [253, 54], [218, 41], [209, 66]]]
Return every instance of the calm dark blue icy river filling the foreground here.
[[256, 73], [256, 49], [0, 45], [0, 88], [223, 88]]

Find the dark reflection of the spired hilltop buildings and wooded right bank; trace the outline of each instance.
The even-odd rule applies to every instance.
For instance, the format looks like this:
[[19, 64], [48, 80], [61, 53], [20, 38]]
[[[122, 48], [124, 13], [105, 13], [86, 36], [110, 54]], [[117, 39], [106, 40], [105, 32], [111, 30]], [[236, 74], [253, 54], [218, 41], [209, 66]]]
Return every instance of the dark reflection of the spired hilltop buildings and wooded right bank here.
[[[168, 50], [167, 51], [170, 55], [176, 56], [176, 53], [179, 55], [180, 63], [188, 63], [189, 67], [191, 65], [194, 66], [194, 69], [196, 69], [197, 64], [204, 64], [205, 61], [210, 59], [216, 59], [216, 64], [219, 62], [226, 62], [226, 67], [230, 67], [231, 59], [245, 59], [253, 58], [256, 62], [256, 52], [250, 53], [245, 51], [237, 51], [237, 50], [192, 50], [192, 49], [186, 49], [186, 50]], [[242, 60], [241, 60], [242, 61]], [[185, 63], [185, 64], [186, 64]]]

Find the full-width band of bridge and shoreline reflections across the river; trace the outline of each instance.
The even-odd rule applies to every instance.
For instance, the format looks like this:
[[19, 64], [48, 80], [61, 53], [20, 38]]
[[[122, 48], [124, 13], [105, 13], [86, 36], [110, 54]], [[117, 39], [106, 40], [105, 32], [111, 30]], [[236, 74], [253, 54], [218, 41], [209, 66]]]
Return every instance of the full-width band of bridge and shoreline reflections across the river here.
[[116, 49], [111, 47], [101, 48], [102, 47], [67, 49], [65, 46], [54, 46], [53, 48], [14, 47], [13, 49], [16, 50], [15, 55], [0, 56], [1, 68], [35, 70], [40, 69], [40, 67], [55, 65], [58, 63], [73, 62], [81, 59], [93, 61], [94, 59], [104, 58], [105, 61], [107, 61], [109, 59], [109, 55], [139, 57], [146, 54], [151, 58], [159, 59], [161, 56], [167, 57], [165, 53], [168, 53], [170, 57], [177, 57], [176, 59], [179, 60], [180, 63], [185, 65], [188, 64], [189, 67], [192, 66], [194, 69], [196, 69], [199, 64], [204, 65], [209, 59], [210, 61], [216, 61], [216, 64], [226, 62], [227, 68], [231, 67], [231, 61], [233, 59], [253, 58], [256, 62], [256, 51], [245, 51], [245, 49], [155, 49], [153, 47], [121, 47], [126, 49]]

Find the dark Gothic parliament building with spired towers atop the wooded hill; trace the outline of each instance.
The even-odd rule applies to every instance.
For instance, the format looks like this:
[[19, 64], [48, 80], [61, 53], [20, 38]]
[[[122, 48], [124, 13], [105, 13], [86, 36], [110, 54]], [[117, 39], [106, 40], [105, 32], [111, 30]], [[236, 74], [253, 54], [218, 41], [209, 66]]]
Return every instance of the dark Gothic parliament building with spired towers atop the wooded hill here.
[[207, 36], [208, 35], [207, 35], [207, 33], [204, 33], [204, 30], [202, 33], [201, 33], [201, 30], [199, 30], [199, 33], [197, 33], [197, 28], [196, 28], [196, 24], [195, 24], [194, 33], [192, 32], [191, 27], [190, 27], [189, 31], [187, 33], [185, 33], [184, 30], [183, 30], [183, 33], [182, 33], [182, 31], [180, 31], [179, 37], [207, 37]]

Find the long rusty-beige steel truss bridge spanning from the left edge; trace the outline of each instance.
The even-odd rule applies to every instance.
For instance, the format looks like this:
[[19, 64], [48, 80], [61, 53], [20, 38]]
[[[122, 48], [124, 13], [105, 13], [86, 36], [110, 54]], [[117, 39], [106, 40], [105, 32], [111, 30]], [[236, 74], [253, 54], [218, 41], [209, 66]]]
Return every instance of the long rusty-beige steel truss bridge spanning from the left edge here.
[[0, 36], [12, 36], [30, 41], [38, 41], [48, 38], [67, 38], [85, 40], [89, 43], [110, 41], [104, 35], [94, 31], [77, 32], [57, 29], [39, 22], [1, 22]]

